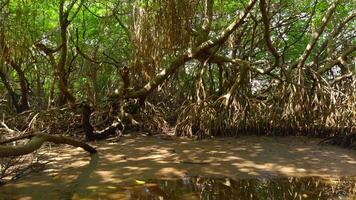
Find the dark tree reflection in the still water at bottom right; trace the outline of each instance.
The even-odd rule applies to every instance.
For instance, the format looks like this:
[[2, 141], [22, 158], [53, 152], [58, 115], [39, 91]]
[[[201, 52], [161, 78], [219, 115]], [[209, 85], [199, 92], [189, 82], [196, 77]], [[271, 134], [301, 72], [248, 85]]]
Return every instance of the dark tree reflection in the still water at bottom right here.
[[356, 178], [183, 178], [150, 180], [133, 199], [339, 199], [356, 196]]

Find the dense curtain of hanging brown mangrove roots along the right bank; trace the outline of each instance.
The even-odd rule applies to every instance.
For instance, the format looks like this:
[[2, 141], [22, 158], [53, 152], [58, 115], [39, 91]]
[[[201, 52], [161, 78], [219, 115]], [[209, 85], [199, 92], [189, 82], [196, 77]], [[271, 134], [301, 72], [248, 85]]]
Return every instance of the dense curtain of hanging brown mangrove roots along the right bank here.
[[293, 84], [282, 83], [276, 87], [278, 94], [264, 99], [236, 93], [184, 105], [176, 135], [332, 136], [325, 143], [355, 147], [352, 94], [341, 94], [323, 86], [315, 88], [313, 94]]

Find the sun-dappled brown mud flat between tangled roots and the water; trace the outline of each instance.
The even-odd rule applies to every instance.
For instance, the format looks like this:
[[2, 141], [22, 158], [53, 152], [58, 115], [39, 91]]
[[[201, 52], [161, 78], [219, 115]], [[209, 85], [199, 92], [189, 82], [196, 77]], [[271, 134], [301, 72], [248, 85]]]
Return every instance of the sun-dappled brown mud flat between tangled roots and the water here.
[[[0, 187], [0, 199], [79, 198], [126, 183], [185, 176], [356, 176], [355, 151], [319, 146], [306, 137], [240, 137], [194, 141], [125, 136], [92, 143], [99, 154], [52, 147], [47, 168]], [[81, 195], [82, 194], [82, 195]], [[115, 198], [120, 198], [116, 196]]]

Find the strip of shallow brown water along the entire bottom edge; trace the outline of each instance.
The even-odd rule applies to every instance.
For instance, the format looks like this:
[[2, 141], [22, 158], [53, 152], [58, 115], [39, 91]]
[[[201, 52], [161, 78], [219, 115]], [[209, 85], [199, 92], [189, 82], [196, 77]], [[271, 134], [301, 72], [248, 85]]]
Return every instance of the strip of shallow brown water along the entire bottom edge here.
[[[0, 194], [1, 199], [138, 199], [138, 200], [260, 200], [355, 199], [356, 177], [270, 177], [231, 179], [183, 177], [121, 180], [117, 183], [72, 182], [41, 194]], [[15, 192], [15, 191], [14, 191]], [[32, 193], [41, 191], [32, 191]]]

